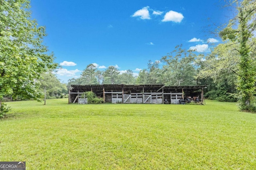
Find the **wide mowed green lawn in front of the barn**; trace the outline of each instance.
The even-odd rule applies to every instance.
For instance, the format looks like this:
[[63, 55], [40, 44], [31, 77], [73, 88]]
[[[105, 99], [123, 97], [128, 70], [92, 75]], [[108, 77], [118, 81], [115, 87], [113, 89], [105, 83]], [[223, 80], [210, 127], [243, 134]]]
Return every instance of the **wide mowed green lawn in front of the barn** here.
[[256, 169], [256, 114], [206, 105], [8, 102], [0, 161], [27, 170]]

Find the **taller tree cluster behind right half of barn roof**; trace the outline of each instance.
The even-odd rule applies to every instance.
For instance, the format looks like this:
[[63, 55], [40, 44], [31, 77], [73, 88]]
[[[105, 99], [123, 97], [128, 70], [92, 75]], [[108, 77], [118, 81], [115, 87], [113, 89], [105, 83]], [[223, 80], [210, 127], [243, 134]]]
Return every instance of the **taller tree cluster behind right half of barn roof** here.
[[196, 85], [196, 55], [193, 51], [182, 49], [177, 45], [161, 61], [149, 61], [148, 69], [139, 72], [137, 84], [165, 84], [168, 86]]

